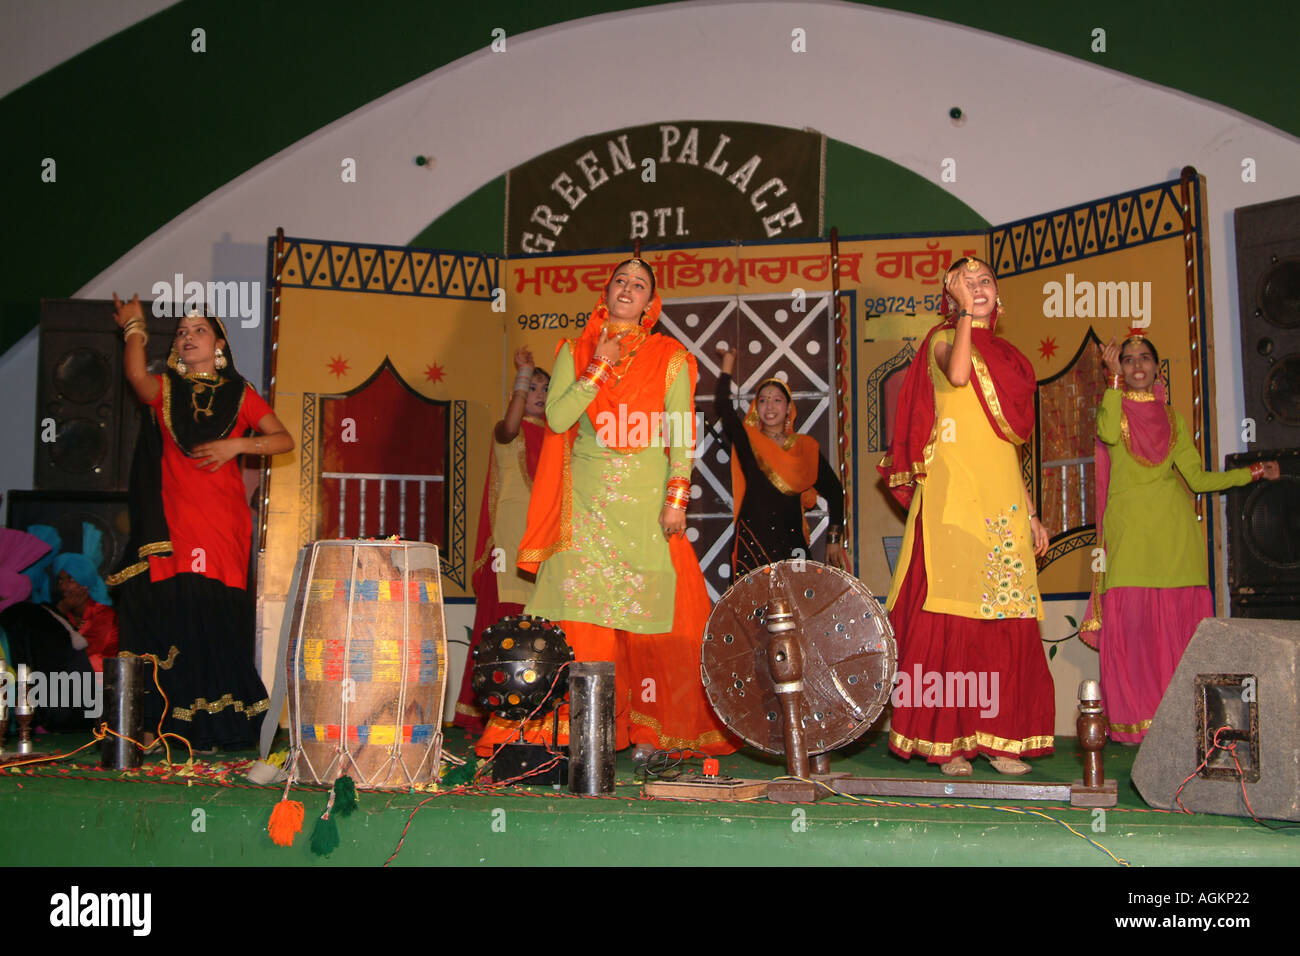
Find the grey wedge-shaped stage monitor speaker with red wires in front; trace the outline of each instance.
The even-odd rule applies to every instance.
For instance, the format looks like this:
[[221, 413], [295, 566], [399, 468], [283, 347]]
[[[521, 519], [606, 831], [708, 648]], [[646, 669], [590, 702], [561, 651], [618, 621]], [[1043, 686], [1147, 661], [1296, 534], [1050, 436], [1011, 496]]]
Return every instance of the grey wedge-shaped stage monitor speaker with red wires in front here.
[[1249, 799], [1257, 817], [1300, 821], [1297, 675], [1300, 623], [1202, 620], [1134, 761], [1141, 799], [1175, 810], [1187, 780], [1188, 810], [1249, 817]]

